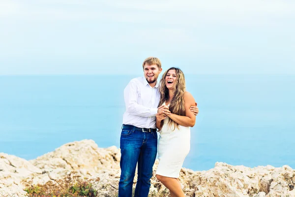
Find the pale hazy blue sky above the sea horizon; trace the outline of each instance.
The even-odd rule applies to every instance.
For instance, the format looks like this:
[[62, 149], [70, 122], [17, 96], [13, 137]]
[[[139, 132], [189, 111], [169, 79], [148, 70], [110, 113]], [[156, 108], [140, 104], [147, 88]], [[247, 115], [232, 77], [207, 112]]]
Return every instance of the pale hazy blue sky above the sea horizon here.
[[0, 75], [295, 74], [294, 0], [0, 0]]

